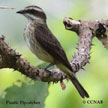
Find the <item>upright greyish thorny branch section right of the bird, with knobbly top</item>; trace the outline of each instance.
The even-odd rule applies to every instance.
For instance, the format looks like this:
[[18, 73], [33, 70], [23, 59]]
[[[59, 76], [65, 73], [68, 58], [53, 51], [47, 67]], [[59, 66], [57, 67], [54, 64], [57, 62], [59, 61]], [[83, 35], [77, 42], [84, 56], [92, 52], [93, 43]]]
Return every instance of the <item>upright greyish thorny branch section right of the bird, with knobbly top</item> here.
[[[89, 63], [90, 50], [92, 39], [96, 36], [105, 46], [108, 48], [108, 40], [106, 34], [108, 33], [108, 20], [96, 20], [96, 21], [75, 21], [72, 18], [65, 18], [63, 21], [67, 30], [74, 31], [79, 36], [78, 52], [74, 55], [71, 62], [74, 72], [78, 72], [79, 69]], [[101, 25], [101, 26], [100, 26]]]

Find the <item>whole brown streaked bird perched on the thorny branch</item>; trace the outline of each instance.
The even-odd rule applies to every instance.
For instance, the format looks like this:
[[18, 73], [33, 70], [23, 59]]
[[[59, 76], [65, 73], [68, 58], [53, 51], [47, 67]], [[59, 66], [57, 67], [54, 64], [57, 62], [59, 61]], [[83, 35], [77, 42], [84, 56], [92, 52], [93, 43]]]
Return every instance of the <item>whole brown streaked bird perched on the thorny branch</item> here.
[[80, 96], [89, 98], [89, 94], [76, 78], [63, 47], [49, 29], [44, 10], [30, 5], [16, 13], [22, 14], [28, 20], [24, 29], [24, 40], [31, 52], [40, 60], [56, 65], [68, 76]]

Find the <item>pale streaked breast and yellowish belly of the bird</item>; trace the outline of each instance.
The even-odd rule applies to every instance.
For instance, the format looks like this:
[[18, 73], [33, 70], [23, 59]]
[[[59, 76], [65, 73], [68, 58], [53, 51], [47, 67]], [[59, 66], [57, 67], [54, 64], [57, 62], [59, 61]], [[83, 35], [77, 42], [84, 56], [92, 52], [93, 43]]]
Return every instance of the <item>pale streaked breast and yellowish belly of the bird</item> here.
[[32, 24], [27, 24], [24, 29], [24, 40], [26, 41], [27, 46], [39, 59], [53, 63], [53, 57], [45, 51], [36, 40], [35, 29], [36, 28], [34, 28]]

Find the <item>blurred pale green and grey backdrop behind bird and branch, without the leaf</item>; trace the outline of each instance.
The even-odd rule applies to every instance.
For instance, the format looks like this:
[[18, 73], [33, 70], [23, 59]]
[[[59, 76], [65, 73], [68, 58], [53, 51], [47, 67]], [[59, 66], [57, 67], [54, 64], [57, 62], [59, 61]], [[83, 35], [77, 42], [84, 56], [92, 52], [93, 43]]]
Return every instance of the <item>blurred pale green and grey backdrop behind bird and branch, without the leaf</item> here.
[[[0, 35], [6, 36], [6, 42], [35, 66], [46, 65], [46, 63], [37, 59], [27, 48], [23, 39], [27, 20], [16, 14], [17, 10], [28, 5], [43, 8], [47, 14], [48, 26], [61, 42], [69, 60], [72, 60], [72, 55], [77, 51], [75, 47], [77, 47], [78, 37], [74, 32], [65, 30], [63, 18], [97, 20], [108, 17], [108, 0], [0, 0], [0, 5], [16, 8], [15, 10], [0, 9]], [[93, 43], [95, 46], [91, 50], [90, 64], [85, 66], [85, 71], [80, 70], [77, 77], [90, 95], [86, 100], [103, 100], [103, 104], [83, 104], [83, 99], [71, 82], [65, 81], [64, 91], [60, 83], [49, 85], [45, 108], [107, 108], [108, 51], [96, 38], [93, 39]], [[1, 69], [0, 95], [3, 96], [4, 90], [13, 84], [20, 85], [19, 80], [24, 83], [32, 82], [17, 71]]]

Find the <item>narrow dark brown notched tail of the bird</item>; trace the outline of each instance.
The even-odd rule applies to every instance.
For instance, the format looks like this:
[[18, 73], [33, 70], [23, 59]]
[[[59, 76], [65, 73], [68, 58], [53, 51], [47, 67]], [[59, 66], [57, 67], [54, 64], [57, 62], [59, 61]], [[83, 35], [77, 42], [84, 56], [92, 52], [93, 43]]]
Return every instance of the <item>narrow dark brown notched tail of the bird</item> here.
[[74, 86], [76, 87], [77, 91], [79, 92], [80, 96], [82, 98], [89, 98], [88, 93], [86, 92], [86, 90], [83, 88], [83, 86], [80, 84], [80, 82], [77, 80], [77, 78], [74, 75], [69, 75], [69, 78], [71, 80], [71, 82], [74, 84]]

